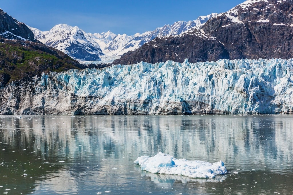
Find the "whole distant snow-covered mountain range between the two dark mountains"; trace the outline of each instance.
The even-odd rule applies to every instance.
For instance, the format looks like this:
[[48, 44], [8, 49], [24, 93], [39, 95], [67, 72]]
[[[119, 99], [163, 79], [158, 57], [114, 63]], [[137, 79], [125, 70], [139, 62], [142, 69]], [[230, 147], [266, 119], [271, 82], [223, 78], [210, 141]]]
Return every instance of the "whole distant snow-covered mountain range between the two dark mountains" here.
[[30, 29], [35, 34], [35, 39], [63, 51], [78, 61], [99, 61], [100, 56], [121, 56], [128, 51], [134, 51], [156, 37], [180, 34], [202, 25], [214, 15], [216, 14], [200, 16], [196, 20], [188, 22], [178, 21], [172, 25], [164, 25], [153, 31], [136, 33], [131, 36], [116, 35], [110, 31], [91, 34], [77, 26], [72, 27], [66, 24], [56, 25], [49, 31], [40, 31], [33, 27]]

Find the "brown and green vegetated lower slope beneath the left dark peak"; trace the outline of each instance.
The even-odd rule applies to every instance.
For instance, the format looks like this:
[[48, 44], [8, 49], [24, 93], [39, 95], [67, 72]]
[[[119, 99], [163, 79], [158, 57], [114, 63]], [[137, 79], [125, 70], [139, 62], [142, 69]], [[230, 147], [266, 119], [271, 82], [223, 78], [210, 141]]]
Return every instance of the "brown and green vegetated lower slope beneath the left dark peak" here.
[[62, 72], [80, 68], [80, 64], [63, 52], [41, 43], [0, 40], [1, 85], [42, 72]]

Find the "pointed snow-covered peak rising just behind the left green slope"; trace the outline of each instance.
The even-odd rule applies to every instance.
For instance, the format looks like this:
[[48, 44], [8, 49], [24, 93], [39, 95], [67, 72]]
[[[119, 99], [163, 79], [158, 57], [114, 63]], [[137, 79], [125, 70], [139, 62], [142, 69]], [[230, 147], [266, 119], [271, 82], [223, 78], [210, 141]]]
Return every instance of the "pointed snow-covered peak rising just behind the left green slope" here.
[[35, 38], [47, 46], [53, 47], [78, 61], [100, 60], [105, 55], [101, 50], [96, 37], [88, 34], [79, 27], [59, 24], [50, 31], [40, 31], [30, 27]]

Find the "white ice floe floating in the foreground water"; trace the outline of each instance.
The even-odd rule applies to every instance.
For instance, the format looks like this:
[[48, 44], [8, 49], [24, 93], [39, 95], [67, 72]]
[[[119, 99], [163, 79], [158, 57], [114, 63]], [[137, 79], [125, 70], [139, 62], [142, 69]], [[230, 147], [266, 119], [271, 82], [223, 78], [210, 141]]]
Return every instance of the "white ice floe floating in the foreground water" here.
[[141, 170], [147, 172], [183, 175], [191, 178], [214, 178], [216, 175], [227, 173], [227, 169], [222, 161], [217, 163], [188, 161], [186, 159], [176, 159], [162, 152], [153, 157], [140, 156], [134, 163], [138, 164]]

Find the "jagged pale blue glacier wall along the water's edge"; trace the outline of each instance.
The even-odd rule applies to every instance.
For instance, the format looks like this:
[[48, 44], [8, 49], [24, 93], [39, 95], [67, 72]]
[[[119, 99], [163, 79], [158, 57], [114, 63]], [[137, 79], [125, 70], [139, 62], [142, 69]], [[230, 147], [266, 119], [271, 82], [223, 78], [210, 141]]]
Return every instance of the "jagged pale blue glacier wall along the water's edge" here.
[[293, 59], [113, 65], [12, 82], [2, 115], [293, 114]]

